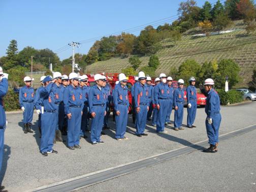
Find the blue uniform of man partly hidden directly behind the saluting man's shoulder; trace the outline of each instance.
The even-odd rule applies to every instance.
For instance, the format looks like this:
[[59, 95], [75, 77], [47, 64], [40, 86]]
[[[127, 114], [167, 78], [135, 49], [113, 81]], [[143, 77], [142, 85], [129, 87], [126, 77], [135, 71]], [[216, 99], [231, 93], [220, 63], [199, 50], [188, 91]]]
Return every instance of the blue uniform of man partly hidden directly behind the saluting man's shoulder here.
[[56, 130], [61, 130], [64, 122], [64, 104], [63, 104], [63, 94], [64, 88], [56, 83], [52, 86], [52, 91], [54, 94], [55, 105], [56, 105]]

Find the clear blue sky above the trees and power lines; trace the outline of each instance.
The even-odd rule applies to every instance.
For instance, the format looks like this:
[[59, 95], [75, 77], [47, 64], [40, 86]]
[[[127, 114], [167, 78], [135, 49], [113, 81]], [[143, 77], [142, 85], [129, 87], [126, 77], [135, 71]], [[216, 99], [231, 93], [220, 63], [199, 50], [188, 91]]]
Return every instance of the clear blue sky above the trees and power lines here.
[[[177, 15], [180, 2], [1, 0], [0, 57], [6, 54], [10, 41], [15, 39], [19, 51], [26, 46], [49, 48], [57, 52], [62, 60], [72, 54], [71, 48], [66, 49], [72, 41], [102, 37]], [[198, 0], [197, 4], [201, 7], [204, 2]], [[216, 0], [209, 2], [215, 3]], [[138, 29], [132, 31], [135, 35], [139, 32]], [[76, 52], [86, 54], [93, 41], [82, 42]]]

